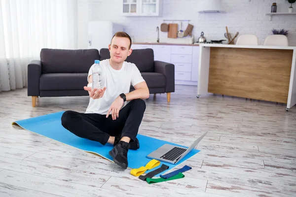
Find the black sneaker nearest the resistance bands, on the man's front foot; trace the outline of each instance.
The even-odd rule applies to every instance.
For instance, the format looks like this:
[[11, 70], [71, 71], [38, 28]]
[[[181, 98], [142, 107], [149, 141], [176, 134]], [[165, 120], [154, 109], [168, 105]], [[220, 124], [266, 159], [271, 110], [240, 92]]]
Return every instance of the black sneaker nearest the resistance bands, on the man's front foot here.
[[111, 151], [109, 155], [113, 158], [115, 164], [121, 166], [122, 168], [127, 168], [127, 152], [130, 147], [130, 144], [125, 141], [119, 141]]

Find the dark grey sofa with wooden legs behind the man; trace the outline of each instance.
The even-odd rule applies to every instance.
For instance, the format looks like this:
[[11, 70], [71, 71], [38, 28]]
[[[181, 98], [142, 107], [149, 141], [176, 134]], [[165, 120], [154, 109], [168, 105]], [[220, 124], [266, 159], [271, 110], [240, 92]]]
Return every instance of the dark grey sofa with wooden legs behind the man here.
[[[40, 61], [34, 60], [28, 65], [28, 96], [32, 97], [32, 106], [36, 106], [37, 97], [88, 96], [83, 89], [87, 85], [89, 68], [95, 60], [110, 58], [108, 49], [41, 49]], [[146, 80], [150, 94], [175, 91], [174, 65], [154, 61], [152, 49], [136, 49], [126, 59], [136, 64]], [[131, 86], [130, 91], [133, 91]]]

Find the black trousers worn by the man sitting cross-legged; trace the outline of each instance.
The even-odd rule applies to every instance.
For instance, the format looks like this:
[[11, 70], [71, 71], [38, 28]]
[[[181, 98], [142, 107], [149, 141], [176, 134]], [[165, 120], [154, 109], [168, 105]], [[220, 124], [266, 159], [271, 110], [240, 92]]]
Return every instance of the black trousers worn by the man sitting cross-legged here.
[[79, 113], [76, 111], [65, 111], [61, 121], [64, 128], [75, 135], [98, 141], [105, 145], [110, 136], [129, 137], [134, 141], [143, 115], [146, 109], [146, 103], [142, 99], [129, 101], [119, 111], [119, 117], [112, 120], [111, 114], [106, 115], [96, 113]]

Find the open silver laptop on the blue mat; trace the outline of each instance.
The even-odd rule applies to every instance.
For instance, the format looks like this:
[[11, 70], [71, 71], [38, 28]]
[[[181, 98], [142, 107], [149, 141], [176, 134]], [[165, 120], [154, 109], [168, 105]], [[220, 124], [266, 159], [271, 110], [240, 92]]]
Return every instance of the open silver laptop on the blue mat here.
[[197, 146], [197, 144], [207, 133], [208, 131], [196, 139], [188, 148], [164, 144], [152, 153], [148, 154], [146, 157], [170, 164], [177, 164], [182, 158], [185, 157], [185, 155], [187, 155], [195, 146]]

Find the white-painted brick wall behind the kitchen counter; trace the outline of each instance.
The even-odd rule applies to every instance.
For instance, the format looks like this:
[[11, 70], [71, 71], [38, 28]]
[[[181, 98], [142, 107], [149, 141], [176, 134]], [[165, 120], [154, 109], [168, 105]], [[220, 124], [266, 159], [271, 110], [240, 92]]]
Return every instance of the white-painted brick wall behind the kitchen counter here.
[[[122, 0], [78, 0], [78, 47], [87, 47], [87, 22], [108, 20], [124, 25], [124, 31], [129, 33], [134, 41], [144, 41], [157, 37], [156, 27], [164, 19], [190, 20], [194, 26], [192, 34], [198, 39], [201, 32], [207, 40], [225, 39], [225, 26], [228, 30], [239, 35], [251, 33], [259, 38], [263, 44], [272, 29], [284, 28], [289, 30], [289, 45], [296, 46], [296, 15], [273, 16], [268, 20], [265, 13], [269, 13], [271, 4], [277, 3], [277, 12], [288, 12], [287, 0], [222, 0], [226, 13], [198, 13], [200, 0], [162, 0], [162, 15], [159, 17], [124, 17], [120, 15]], [[296, 3], [294, 3], [296, 12]], [[183, 25], [185, 30], [187, 24]], [[102, 30], [104, 31], [104, 30]], [[159, 37], [167, 37], [167, 33], [160, 32]]]

